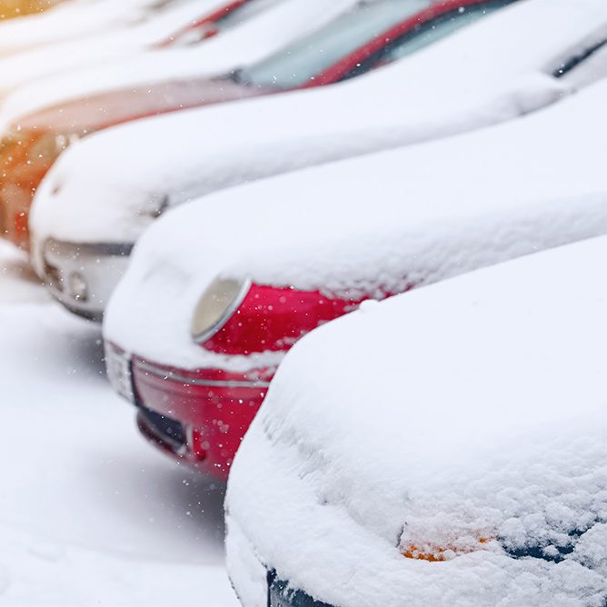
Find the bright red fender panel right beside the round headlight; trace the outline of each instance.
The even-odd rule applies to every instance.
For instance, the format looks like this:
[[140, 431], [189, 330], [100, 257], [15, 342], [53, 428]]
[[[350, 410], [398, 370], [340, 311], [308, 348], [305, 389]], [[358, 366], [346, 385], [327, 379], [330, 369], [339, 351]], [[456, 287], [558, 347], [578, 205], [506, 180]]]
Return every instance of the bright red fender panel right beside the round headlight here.
[[252, 284], [230, 320], [203, 346], [223, 354], [285, 351], [305, 333], [351, 312], [361, 301]]

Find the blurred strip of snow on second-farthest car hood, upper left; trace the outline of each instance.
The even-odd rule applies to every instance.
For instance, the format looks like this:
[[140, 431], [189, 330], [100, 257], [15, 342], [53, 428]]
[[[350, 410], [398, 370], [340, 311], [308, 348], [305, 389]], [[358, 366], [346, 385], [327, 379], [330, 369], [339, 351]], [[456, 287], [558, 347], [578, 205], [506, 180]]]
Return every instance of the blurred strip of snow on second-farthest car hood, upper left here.
[[[59, 74], [114, 57], [133, 55], [144, 50], [147, 45], [164, 42], [169, 36], [209, 11], [225, 4], [225, 0], [189, 0], [169, 5], [163, 11], [157, 10], [141, 22], [116, 24], [98, 34], [68, 40], [61, 44], [45, 45], [30, 51], [0, 57], [0, 96], [9, 94], [18, 86], [29, 85], [36, 78]], [[48, 85], [48, 83], [47, 83]], [[41, 103], [36, 89], [28, 89], [17, 95], [28, 98], [28, 105]], [[22, 105], [21, 111], [25, 107]]]

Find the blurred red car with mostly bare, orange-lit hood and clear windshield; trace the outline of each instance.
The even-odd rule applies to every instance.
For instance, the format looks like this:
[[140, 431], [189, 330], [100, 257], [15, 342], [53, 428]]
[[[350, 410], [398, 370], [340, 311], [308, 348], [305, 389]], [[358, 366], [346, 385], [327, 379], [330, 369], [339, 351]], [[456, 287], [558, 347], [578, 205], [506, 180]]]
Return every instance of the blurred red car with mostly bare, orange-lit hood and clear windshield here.
[[[196, 27], [212, 35], [214, 26], [226, 18], [225, 11], [232, 15], [241, 6], [261, 1], [230, 3]], [[312, 35], [224, 77], [125, 88], [25, 116], [0, 142], [0, 233], [18, 246], [28, 246], [28, 213], [35, 190], [57, 156], [76, 138], [154, 114], [336, 83], [431, 44], [460, 21], [514, 1], [359, 3]], [[413, 38], [415, 44], [407, 45]]]

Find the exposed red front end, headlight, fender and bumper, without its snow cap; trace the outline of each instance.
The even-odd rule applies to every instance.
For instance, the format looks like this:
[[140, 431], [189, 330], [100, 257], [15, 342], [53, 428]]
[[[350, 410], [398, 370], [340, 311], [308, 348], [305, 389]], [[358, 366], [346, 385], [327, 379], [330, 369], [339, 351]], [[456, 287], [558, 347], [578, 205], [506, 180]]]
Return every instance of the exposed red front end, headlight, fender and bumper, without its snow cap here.
[[[106, 340], [107, 373], [116, 392], [137, 407], [137, 425], [149, 443], [224, 479], [284, 353], [304, 333], [356, 304], [217, 278], [204, 290], [191, 323], [192, 339], [213, 364], [187, 369], [157, 363]], [[269, 363], [254, 363], [256, 354], [269, 355]], [[252, 363], [234, 370], [234, 361], [248, 357]]]

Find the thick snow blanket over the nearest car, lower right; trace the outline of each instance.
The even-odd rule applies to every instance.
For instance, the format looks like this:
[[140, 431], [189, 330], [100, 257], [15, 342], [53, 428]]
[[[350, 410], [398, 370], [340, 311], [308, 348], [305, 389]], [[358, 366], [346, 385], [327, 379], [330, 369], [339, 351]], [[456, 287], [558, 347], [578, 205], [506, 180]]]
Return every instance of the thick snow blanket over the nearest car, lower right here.
[[605, 255], [533, 254], [304, 337], [236, 456], [230, 550], [340, 607], [602, 607]]

